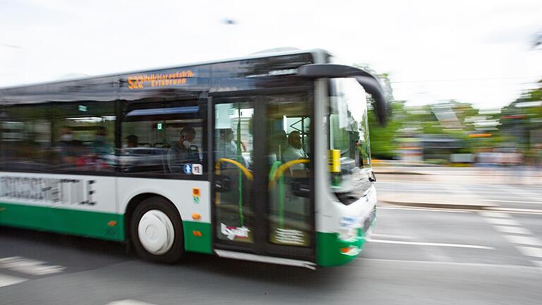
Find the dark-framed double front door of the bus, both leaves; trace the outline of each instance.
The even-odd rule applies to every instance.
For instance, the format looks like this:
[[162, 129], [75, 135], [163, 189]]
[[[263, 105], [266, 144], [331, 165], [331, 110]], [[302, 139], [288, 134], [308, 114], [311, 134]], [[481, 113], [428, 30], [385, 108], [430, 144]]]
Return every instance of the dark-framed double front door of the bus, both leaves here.
[[215, 248], [313, 261], [309, 94], [212, 99]]

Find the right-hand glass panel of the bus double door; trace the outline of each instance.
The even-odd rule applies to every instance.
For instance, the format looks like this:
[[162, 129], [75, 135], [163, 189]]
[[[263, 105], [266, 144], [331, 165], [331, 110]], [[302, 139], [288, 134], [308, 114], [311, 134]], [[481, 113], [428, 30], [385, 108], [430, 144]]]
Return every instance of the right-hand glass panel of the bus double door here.
[[311, 246], [311, 118], [307, 95], [267, 102], [269, 241]]

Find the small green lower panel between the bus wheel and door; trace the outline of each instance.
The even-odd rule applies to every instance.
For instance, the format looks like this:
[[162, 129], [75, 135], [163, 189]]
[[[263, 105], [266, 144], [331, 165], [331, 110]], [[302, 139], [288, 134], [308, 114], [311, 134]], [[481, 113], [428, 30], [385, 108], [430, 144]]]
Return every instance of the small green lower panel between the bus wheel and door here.
[[210, 223], [183, 221], [183, 229], [186, 251], [212, 253]]

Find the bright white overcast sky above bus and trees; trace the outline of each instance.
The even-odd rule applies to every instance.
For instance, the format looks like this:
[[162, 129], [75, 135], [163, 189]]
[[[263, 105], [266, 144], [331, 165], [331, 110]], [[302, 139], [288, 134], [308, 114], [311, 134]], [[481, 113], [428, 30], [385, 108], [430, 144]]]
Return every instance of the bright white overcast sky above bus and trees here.
[[539, 31], [541, 0], [0, 0], [0, 86], [318, 47], [397, 100], [498, 108], [542, 78]]

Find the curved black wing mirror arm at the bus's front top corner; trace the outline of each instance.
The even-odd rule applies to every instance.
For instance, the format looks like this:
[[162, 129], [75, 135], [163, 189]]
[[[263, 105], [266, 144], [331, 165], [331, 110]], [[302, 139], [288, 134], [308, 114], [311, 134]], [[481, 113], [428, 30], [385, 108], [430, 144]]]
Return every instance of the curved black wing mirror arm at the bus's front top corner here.
[[380, 125], [387, 124], [387, 116], [391, 107], [386, 101], [384, 90], [378, 78], [371, 73], [353, 66], [339, 64], [308, 64], [297, 69], [297, 75], [304, 78], [356, 78], [358, 83], [368, 92], [374, 100], [373, 107]]

